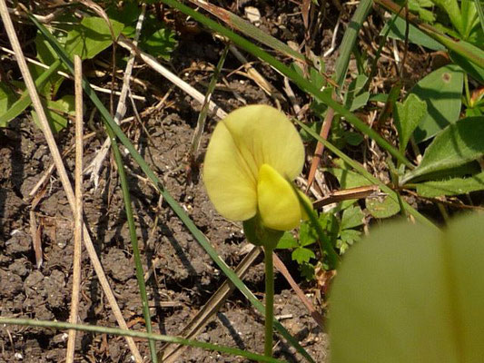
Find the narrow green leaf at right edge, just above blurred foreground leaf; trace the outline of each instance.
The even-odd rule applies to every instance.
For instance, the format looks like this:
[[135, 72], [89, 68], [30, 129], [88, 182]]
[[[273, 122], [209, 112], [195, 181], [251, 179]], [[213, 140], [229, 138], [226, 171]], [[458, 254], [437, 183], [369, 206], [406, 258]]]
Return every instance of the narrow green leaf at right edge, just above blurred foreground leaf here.
[[484, 190], [484, 172], [468, 178], [452, 178], [446, 181], [420, 182], [417, 192], [422, 197], [434, 198], [441, 195], [459, 195], [470, 191]]

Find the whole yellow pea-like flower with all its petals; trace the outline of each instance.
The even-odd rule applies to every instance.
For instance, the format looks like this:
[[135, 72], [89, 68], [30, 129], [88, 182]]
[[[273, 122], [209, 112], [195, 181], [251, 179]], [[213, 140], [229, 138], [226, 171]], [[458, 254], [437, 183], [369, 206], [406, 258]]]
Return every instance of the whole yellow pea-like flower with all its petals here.
[[303, 163], [301, 137], [289, 119], [270, 106], [250, 105], [215, 127], [203, 180], [223, 217], [247, 221], [258, 213], [265, 227], [288, 231], [305, 217], [287, 181], [299, 175]]

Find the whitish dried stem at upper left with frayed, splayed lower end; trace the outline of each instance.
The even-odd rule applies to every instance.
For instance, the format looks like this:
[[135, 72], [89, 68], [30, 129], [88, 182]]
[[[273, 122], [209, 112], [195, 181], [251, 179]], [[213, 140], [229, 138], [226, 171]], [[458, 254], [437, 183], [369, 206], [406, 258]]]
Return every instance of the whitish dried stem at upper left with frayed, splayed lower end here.
[[[138, 43], [138, 39], [141, 34], [141, 29], [143, 27], [144, 14], [146, 12], [146, 4], [143, 3], [142, 11], [138, 17], [138, 22], [136, 23], [136, 33], [134, 34], [133, 44]], [[123, 76], [123, 88], [121, 89], [121, 96], [119, 97], [118, 105], [116, 107], [116, 113], [114, 114], [114, 123], [119, 124], [120, 120], [123, 118], [124, 113], [126, 113], [126, 95], [128, 94], [128, 89], [130, 87], [130, 77], [133, 72], [133, 65], [135, 60], [135, 53], [132, 50], [126, 64], [126, 69], [124, 70]], [[94, 187], [97, 189], [99, 185], [99, 172], [101, 172], [101, 167], [103, 166], [104, 159], [106, 158], [107, 152], [111, 147], [111, 139], [106, 137], [104, 140], [101, 150], [96, 153], [94, 160], [86, 168], [85, 173], [91, 174], [91, 182], [94, 182]]]

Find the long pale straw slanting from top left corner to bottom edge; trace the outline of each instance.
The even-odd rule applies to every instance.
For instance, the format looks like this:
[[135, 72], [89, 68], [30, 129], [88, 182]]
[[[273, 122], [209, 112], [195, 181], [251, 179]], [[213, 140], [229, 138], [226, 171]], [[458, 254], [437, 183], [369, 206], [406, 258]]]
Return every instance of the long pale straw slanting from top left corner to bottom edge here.
[[[67, 176], [67, 172], [64, 167], [64, 163], [61, 158], [61, 154], [59, 150], [57, 149], [57, 145], [55, 144], [54, 140], [54, 135], [52, 133], [52, 130], [50, 129], [49, 123], [47, 121], [47, 118], [44, 113], [44, 108], [42, 106], [42, 103], [40, 102], [40, 97], [35, 89], [35, 83], [34, 80], [32, 79], [32, 74], [30, 74], [27, 64], [25, 62], [24, 58], [24, 53], [22, 52], [22, 48], [20, 46], [20, 43], [18, 41], [18, 38], [15, 34], [15, 28], [12, 23], [12, 19], [10, 18], [10, 15], [8, 14], [8, 9], [5, 4], [5, 0], [0, 0], [0, 15], [2, 17], [2, 21], [5, 26], [5, 31], [6, 34], [8, 35], [8, 38], [10, 40], [10, 43], [12, 44], [12, 48], [16, 54], [17, 62], [20, 68], [20, 71], [22, 73], [22, 76], [24, 77], [25, 80], [25, 86], [26, 89], [28, 90], [30, 97], [32, 99], [32, 103], [35, 108], [35, 112], [38, 115], [39, 122], [41, 124], [41, 130], [44, 132], [45, 140], [47, 142], [47, 145], [49, 147], [49, 150], [52, 154], [52, 158], [54, 159], [55, 162], [55, 167], [57, 169], [57, 172], [59, 174], [59, 178], [63, 184], [65, 194], [67, 196], [67, 200], [69, 201], [69, 204], [71, 206], [71, 209], [73, 211], [73, 214], [75, 214], [75, 197], [74, 197], [74, 191], [73, 187], [71, 185], [71, 182], [69, 181], [69, 177]], [[99, 279], [99, 283], [101, 284], [104, 294], [106, 296], [106, 299], [108, 299], [109, 304], [111, 305], [111, 308], [113, 309], [114, 316], [121, 327], [121, 329], [128, 329], [126, 322], [123, 319], [123, 314], [121, 313], [121, 310], [119, 309], [119, 306], [116, 302], [116, 299], [114, 298], [113, 291], [111, 290], [109, 283], [106, 279], [106, 276], [104, 274], [104, 270], [101, 266], [101, 262], [99, 261], [96, 251], [94, 249], [93, 241], [91, 240], [91, 237], [89, 236], [89, 231], [87, 231], [87, 228], [84, 224], [83, 228], [84, 232], [84, 244], [85, 248], [89, 254], [89, 257], [91, 258], [93, 262], [93, 267], [94, 270], [97, 274], [97, 277]], [[129, 348], [131, 349], [133, 353], [133, 357], [137, 362], [142, 362], [142, 357], [140, 355], [140, 352], [136, 345], [134, 344], [134, 340], [131, 337], [125, 337], [126, 341], [128, 343]]]

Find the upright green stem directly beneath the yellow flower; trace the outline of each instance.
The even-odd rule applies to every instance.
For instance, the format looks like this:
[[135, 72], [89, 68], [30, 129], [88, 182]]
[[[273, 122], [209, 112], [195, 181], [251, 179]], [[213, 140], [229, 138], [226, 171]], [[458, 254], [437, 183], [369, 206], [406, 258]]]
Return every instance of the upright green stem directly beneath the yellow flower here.
[[265, 257], [265, 343], [264, 356], [272, 358], [272, 334], [274, 320], [274, 263], [272, 248], [264, 247]]

